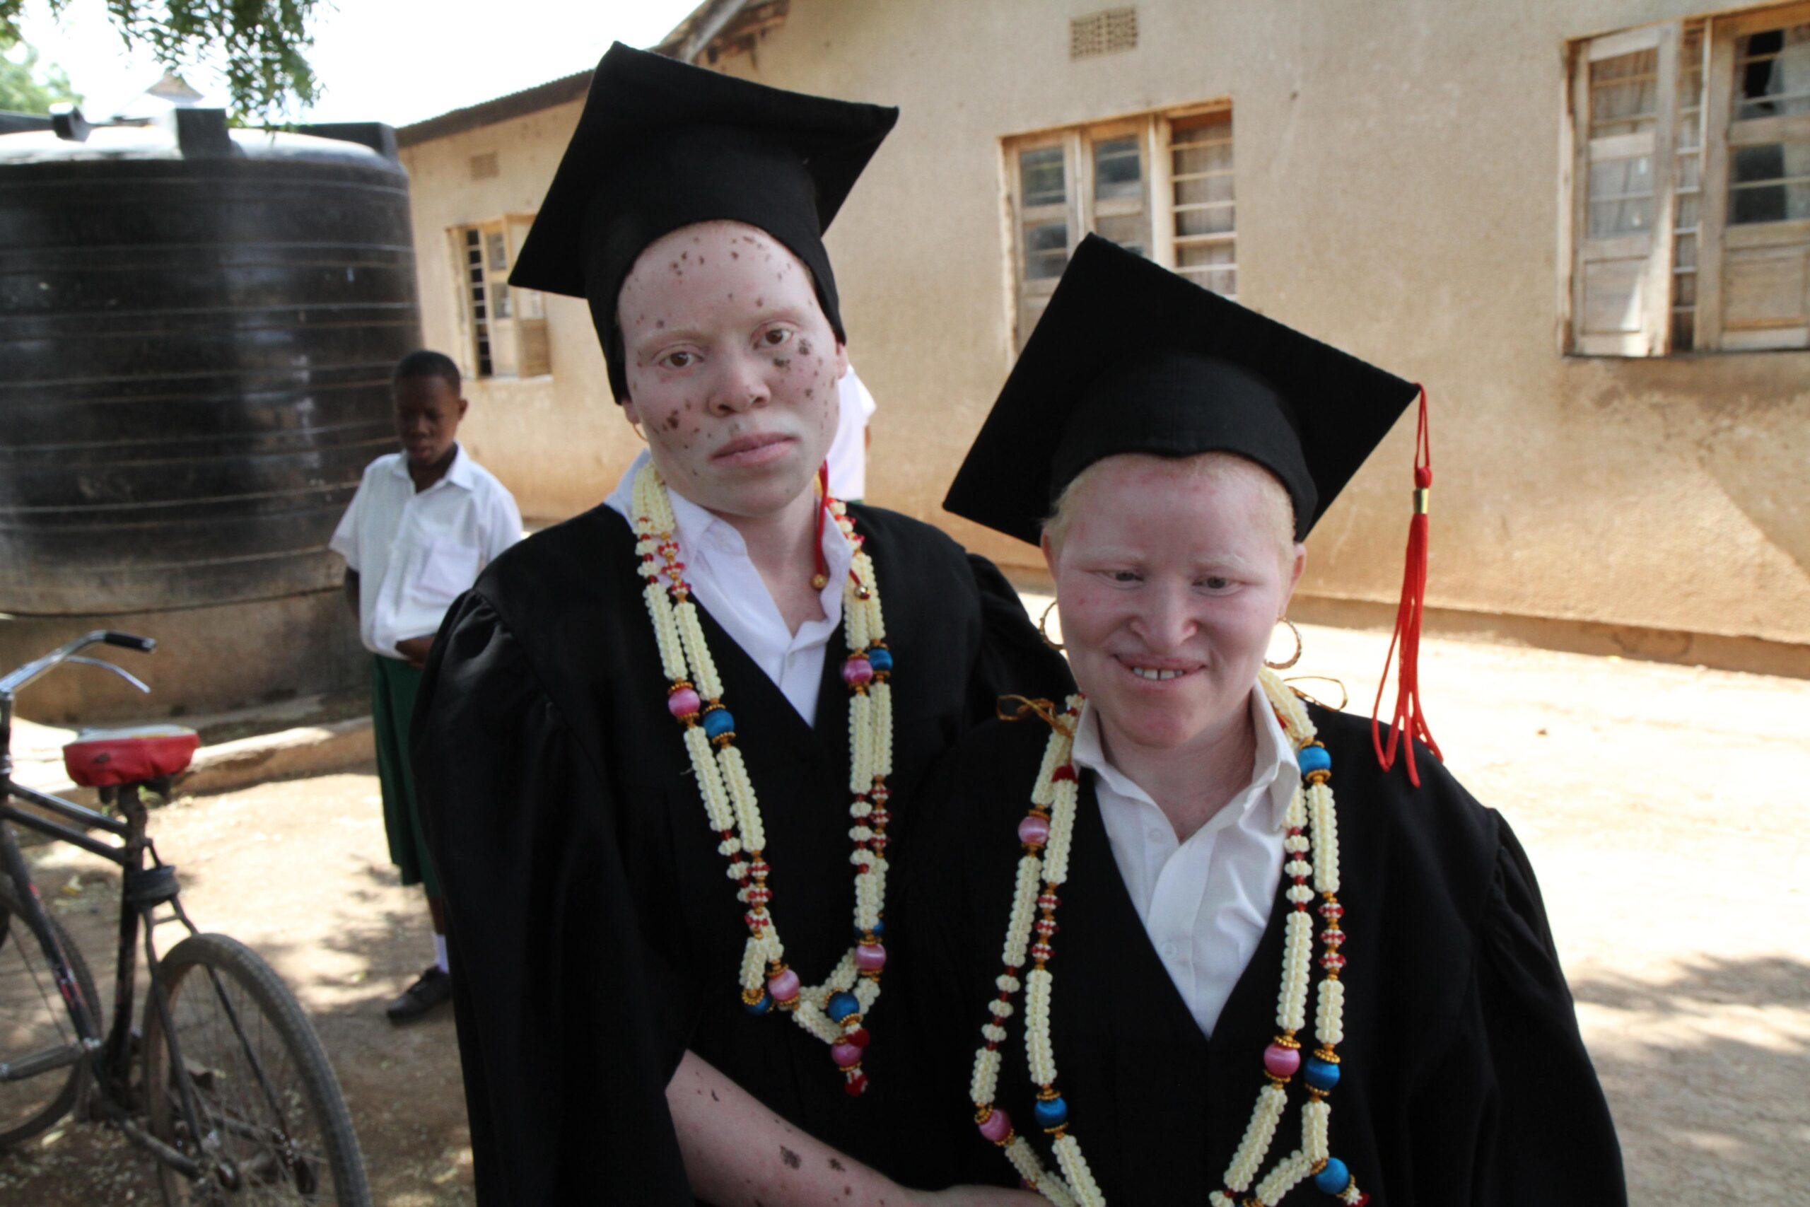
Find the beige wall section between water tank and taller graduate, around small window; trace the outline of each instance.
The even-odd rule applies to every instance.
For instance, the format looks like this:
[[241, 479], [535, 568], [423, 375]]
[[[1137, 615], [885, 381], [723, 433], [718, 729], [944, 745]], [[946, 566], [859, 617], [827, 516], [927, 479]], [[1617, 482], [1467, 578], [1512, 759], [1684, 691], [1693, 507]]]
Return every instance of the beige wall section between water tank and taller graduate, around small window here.
[[[610, 398], [590, 309], [579, 299], [547, 295], [550, 375], [472, 376], [463, 280], [447, 232], [534, 214], [581, 109], [572, 101], [402, 150], [414, 210], [422, 338], [463, 367], [471, 411], [460, 440], [503, 480], [530, 519], [557, 519], [603, 501], [641, 442]], [[474, 181], [471, 157], [485, 152], [496, 154], [498, 174]]]

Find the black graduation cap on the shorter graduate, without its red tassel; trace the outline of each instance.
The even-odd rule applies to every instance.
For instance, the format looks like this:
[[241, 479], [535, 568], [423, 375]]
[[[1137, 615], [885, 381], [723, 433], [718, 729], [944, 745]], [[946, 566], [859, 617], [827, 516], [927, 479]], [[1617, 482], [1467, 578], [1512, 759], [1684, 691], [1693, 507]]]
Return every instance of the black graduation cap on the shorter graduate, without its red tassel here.
[[1303, 539], [1419, 387], [1088, 235], [943, 507], [1021, 541], [1119, 452], [1236, 452]]

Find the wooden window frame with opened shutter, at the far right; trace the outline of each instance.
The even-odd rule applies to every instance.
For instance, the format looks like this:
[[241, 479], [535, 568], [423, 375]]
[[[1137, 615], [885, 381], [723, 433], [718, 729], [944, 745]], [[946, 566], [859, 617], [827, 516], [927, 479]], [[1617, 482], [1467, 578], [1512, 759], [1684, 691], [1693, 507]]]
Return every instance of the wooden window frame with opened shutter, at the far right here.
[[[1810, 112], [1734, 119], [1738, 40], [1801, 24], [1810, 24], [1810, 0], [1665, 22], [1571, 43], [1560, 138], [1560, 253], [1566, 266], [1560, 284], [1560, 351], [1580, 356], [1674, 355], [1680, 351], [1674, 349], [1674, 317], [1687, 309], [1692, 311], [1692, 353], [1810, 347], [1810, 219], [1729, 223], [1732, 152], [1747, 145], [1810, 139]], [[1698, 31], [1703, 60], [1694, 150], [1700, 165], [1698, 224], [1692, 232], [1678, 223], [1680, 197], [1691, 192], [1678, 174], [1680, 159], [1689, 154], [1680, 150], [1678, 141], [1678, 123], [1687, 116], [1678, 80], [1685, 71], [1680, 49]], [[1591, 63], [1643, 49], [1658, 52], [1654, 128], [1605, 136], [1593, 143]], [[1647, 233], [1591, 239], [1591, 161], [1643, 152], [1651, 154], [1653, 176], [1653, 221]], [[1676, 262], [1680, 235], [1692, 233], [1694, 268]], [[1586, 329], [1591, 266], [1633, 261], [1642, 261], [1638, 329]], [[1683, 277], [1694, 277], [1694, 302], [1678, 299]], [[1801, 291], [1796, 299], [1794, 290]], [[1790, 308], [1796, 308], [1794, 313], [1785, 313]]]

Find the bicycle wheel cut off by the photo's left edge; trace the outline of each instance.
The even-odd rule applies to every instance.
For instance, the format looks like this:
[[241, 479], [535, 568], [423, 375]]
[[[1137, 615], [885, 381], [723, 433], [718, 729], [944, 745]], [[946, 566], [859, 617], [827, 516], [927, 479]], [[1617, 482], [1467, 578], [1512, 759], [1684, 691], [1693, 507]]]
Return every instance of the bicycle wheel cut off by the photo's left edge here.
[[[49, 917], [49, 912], [45, 912]], [[63, 927], [51, 917], [51, 934], [76, 975], [76, 986], [89, 1003], [96, 1033], [101, 1028], [101, 995], [81, 952]], [[38, 936], [25, 925], [25, 912], [13, 890], [13, 879], [0, 872], [0, 1064], [9, 1064], [51, 1048], [76, 1042], [76, 1024]], [[51, 1069], [22, 1082], [0, 1082], [0, 1149], [29, 1140], [69, 1113], [81, 1093], [85, 1064]]]

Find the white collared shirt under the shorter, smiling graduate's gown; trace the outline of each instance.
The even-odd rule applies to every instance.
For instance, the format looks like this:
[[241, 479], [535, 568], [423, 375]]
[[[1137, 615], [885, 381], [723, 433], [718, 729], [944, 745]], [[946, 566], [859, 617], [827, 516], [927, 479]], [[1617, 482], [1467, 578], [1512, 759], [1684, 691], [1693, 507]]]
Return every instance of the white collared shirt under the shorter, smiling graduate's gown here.
[[1209, 1039], [1269, 925], [1281, 883], [1289, 798], [1301, 776], [1294, 746], [1262, 691], [1251, 693], [1251, 782], [1187, 841], [1176, 841], [1149, 793], [1106, 762], [1091, 702], [1081, 706], [1075, 727], [1073, 762], [1093, 773], [1119, 876], [1162, 966]]

